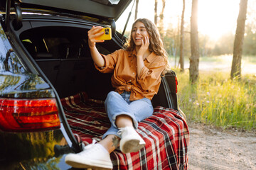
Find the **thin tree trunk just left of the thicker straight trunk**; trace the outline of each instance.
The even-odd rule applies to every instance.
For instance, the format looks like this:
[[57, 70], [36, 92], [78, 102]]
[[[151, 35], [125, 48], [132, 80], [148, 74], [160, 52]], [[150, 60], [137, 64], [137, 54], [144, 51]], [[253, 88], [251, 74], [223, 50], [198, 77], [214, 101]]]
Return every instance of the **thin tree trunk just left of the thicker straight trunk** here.
[[183, 45], [184, 45], [184, 13], [185, 13], [185, 0], [183, 0], [183, 9], [181, 14], [181, 37], [180, 37], [180, 64], [181, 72], [184, 72], [184, 56], [183, 56]]

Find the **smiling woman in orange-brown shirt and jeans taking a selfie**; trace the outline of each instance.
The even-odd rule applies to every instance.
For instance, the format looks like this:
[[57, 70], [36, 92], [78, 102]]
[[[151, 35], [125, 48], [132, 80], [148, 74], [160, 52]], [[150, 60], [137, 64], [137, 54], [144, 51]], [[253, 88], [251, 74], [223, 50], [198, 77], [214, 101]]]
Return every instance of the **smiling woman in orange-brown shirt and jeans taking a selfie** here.
[[77, 168], [112, 169], [110, 153], [138, 152], [145, 142], [137, 133], [138, 122], [153, 114], [151, 99], [159, 90], [167, 62], [159, 32], [151, 21], [142, 18], [132, 25], [127, 48], [110, 55], [100, 55], [95, 44], [102, 27], [88, 31], [88, 44], [95, 67], [103, 73], [113, 72], [111, 91], [105, 101], [111, 128], [100, 142], [87, 145], [78, 154], [68, 154], [65, 162]]

